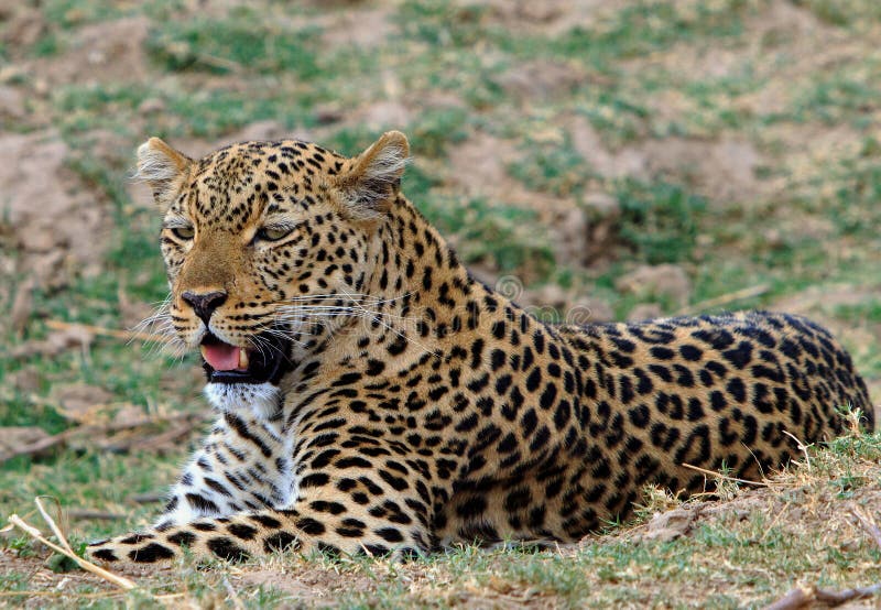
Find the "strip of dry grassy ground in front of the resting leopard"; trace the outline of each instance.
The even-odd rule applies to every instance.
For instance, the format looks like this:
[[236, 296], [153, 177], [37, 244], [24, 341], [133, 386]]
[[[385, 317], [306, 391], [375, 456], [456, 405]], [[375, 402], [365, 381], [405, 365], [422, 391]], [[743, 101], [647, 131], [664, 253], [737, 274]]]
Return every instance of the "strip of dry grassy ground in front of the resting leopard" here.
[[557, 552], [468, 547], [403, 565], [296, 555], [207, 569], [183, 562], [121, 568], [138, 586], [126, 593], [97, 577], [53, 574], [40, 546], [19, 544], [25, 556], [0, 553], [0, 573], [21, 575], [3, 595], [10, 603], [67, 607], [139, 596], [246, 607], [743, 607], [793, 587], [828, 592], [881, 582], [881, 435], [849, 436], [807, 455], [809, 467], [805, 459], [769, 473], [761, 487], [729, 487], [724, 501], [678, 504], [651, 494], [641, 523]]

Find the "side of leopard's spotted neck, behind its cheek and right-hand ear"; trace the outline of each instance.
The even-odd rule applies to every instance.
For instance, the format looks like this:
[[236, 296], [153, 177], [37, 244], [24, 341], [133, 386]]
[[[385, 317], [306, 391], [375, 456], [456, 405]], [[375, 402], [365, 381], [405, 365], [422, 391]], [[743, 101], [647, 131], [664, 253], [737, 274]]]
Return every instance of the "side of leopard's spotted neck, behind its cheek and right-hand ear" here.
[[368, 264], [372, 273], [358, 302], [361, 315], [324, 337], [302, 359], [292, 381], [308, 381], [319, 368], [360, 370], [378, 360], [387, 371], [400, 371], [499, 333], [505, 324], [523, 326], [523, 317], [532, 328], [543, 326], [475, 280], [440, 233], [402, 196], [377, 227]]

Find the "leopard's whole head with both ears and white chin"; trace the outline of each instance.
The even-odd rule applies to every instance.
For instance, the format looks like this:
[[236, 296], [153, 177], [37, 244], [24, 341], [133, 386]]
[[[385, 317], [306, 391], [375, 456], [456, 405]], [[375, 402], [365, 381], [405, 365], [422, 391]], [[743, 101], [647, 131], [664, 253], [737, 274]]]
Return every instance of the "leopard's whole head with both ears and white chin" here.
[[315, 320], [330, 319], [317, 314], [363, 293], [368, 246], [407, 152], [394, 131], [352, 159], [296, 140], [200, 160], [157, 138], [138, 149], [139, 176], [163, 213], [170, 319], [187, 349], [200, 349], [216, 405], [278, 402], [272, 388], [308, 349]]

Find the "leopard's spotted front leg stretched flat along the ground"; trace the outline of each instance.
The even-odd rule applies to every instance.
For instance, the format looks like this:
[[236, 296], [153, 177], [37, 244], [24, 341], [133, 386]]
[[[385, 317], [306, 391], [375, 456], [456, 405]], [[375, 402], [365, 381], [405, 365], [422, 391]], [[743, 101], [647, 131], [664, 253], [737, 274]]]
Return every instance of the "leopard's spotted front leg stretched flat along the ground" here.
[[431, 486], [421, 476], [403, 477], [381, 460], [373, 468], [354, 451], [326, 451], [334, 457], [325, 468], [303, 470], [290, 510], [163, 525], [98, 543], [89, 554], [107, 562], [153, 563], [178, 557], [184, 548], [198, 557], [232, 560], [285, 548], [399, 557], [429, 551]]

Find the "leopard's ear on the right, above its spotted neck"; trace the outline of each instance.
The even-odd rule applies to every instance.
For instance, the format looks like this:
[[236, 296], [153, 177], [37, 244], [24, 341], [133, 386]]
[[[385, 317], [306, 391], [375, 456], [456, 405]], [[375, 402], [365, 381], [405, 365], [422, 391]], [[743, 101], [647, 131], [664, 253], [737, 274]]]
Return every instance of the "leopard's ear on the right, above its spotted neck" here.
[[349, 171], [336, 178], [351, 218], [372, 220], [389, 210], [401, 188], [409, 155], [406, 135], [388, 131], [352, 160]]

